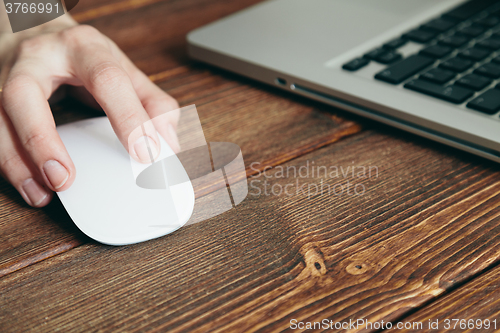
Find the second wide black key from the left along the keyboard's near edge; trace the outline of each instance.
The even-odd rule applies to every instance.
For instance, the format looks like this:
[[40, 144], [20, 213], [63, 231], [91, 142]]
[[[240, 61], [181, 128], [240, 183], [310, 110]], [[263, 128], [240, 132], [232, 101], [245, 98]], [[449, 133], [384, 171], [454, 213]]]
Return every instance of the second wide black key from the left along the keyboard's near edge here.
[[467, 88], [455, 85], [443, 87], [424, 80], [410, 81], [404, 87], [455, 104], [461, 104], [474, 95], [474, 91]]

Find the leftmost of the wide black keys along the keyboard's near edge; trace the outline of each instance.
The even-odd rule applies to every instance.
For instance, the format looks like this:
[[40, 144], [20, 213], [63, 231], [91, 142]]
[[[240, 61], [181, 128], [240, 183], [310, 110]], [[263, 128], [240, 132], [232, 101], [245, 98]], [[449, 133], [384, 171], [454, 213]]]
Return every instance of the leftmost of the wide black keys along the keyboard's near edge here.
[[434, 62], [435, 60], [432, 58], [417, 54], [412, 55], [375, 74], [375, 78], [392, 84], [398, 84], [432, 65]]

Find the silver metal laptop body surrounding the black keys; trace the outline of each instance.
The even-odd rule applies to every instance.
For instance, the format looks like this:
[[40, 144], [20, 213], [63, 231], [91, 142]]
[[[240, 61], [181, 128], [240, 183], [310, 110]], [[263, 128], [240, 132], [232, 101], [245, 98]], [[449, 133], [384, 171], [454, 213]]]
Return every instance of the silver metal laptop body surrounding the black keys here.
[[[485, 5], [482, 1], [482, 6], [491, 6], [490, 2]], [[488, 13], [479, 11], [473, 17], [457, 20], [457, 26], [439, 33], [430, 42], [415, 42], [405, 35], [408, 41], [395, 49], [401, 59], [393, 63], [371, 60], [354, 71], [342, 68], [353, 59], [366, 59], [367, 53], [384, 48], [382, 45], [464, 4], [463, 0], [271, 0], [191, 32], [189, 54], [203, 62], [500, 162], [499, 112], [485, 113], [469, 107], [473, 100], [481, 105], [477, 98], [494, 89], [500, 82], [498, 79], [491, 78], [489, 85], [474, 90], [465, 102], [450, 102], [428, 92], [405, 88], [407, 84], [417, 84], [415, 80], [430, 68], [443, 72], [440, 64], [479, 43], [477, 38], [435, 59], [432, 65], [398, 84], [375, 79], [377, 73], [387, 72], [405, 61], [401, 59], [441, 43], [441, 39], [457, 34], [464, 27], [469, 28], [467, 31], [473, 30], [469, 27], [472, 25], [480, 27]], [[494, 20], [489, 23], [478, 38], [491, 39], [500, 30]], [[439, 47], [435, 49], [439, 51]], [[474, 62], [466, 71], [455, 73], [456, 77], [442, 86], [475, 73], [497, 55], [500, 50], [498, 54], [490, 50], [486, 58]], [[394, 67], [393, 72], [397, 70], [400, 69]], [[383, 73], [391, 74], [394, 73]], [[423, 89], [427, 89], [426, 84], [422, 84]], [[457, 93], [466, 91], [456, 88]], [[438, 93], [448, 98], [449, 91]]]

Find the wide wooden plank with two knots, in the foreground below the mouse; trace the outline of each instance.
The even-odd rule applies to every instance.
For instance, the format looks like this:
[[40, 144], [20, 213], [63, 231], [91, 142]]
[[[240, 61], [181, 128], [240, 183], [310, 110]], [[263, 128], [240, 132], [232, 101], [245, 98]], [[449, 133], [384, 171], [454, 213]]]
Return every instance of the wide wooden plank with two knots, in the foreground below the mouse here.
[[[250, 179], [247, 199], [221, 216], [134, 246], [86, 244], [12, 273], [0, 281], [9, 304], [0, 320], [6, 330], [226, 332], [401, 318], [500, 253], [498, 166], [404, 137], [363, 132]], [[313, 175], [313, 165], [340, 174]], [[378, 173], [362, 178], [361, 166]], [[291, 190], [256, 195], [264, 180], [268, 193]], [[347, 182], [350, 194], [307, 192], [346, 191]]]

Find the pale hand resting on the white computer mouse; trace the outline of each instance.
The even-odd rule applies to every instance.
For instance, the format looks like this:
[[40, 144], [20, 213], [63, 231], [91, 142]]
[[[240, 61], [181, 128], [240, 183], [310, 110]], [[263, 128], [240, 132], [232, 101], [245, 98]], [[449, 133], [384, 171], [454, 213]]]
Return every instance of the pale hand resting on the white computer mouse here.
[[[49, 98], [68, 85], [75, 96], [100, 107], [129, 154], [150, 163], [160, 135], [179, 151], [179, 112], [162, 128], [137, 127], [179, 105], [141, 72], [109, 38], [69, 15], [16, 34], [0, 34], [0, 173], [33, 207], [67, 190], [75, 166], [57, 134]], [[137, 134], [135, 134], [137, 133]]]

